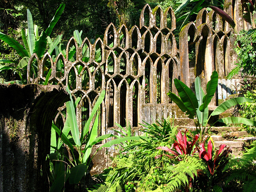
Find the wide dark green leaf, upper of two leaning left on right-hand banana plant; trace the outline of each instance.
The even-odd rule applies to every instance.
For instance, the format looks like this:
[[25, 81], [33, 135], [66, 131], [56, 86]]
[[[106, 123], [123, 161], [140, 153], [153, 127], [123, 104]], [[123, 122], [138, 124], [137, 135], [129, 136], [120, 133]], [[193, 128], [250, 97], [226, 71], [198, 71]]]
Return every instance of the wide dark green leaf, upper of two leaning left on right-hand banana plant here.
[[175, 87], [179, 93], [180, 99], [191, 112], [196, 112], [196, 108], [198, 108], [198, 101], [196, 99], [196, 95], [192, 92], [191, 89], [188, 88], [183, 82], [178, 79], [174, 79]]

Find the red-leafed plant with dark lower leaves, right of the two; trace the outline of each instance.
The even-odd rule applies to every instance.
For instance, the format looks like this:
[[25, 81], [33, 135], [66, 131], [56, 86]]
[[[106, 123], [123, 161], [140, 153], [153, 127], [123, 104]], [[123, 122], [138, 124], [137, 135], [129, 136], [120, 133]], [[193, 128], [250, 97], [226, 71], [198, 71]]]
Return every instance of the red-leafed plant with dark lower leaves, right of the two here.
[[[226, 158], [228, 157], [228, 154], [230, 152], [232, 153], [232, 150], [230, 149], [230, 147], [224, 150], [226, 145], [221, 144], [219, 147], [219, 150], [217, 150], [214, 155], [214, 159], [212, 159], [213, 158], [212, 157], [212, 147], [213, 147], [212, 141], [211, 140], [208, 141], [207, 151], [204, 148], [204, 143], [200, 143], [199, 146], [200, 146], [199, 157], [206, 162], [211, 175], [213, 175], [214, 171], [220, 166], [220, 161], [222, 161], [221, 166], [225, 166], [228, 163], [228, 159]], [[221, 152], [222, 154], [220, 155]]]

